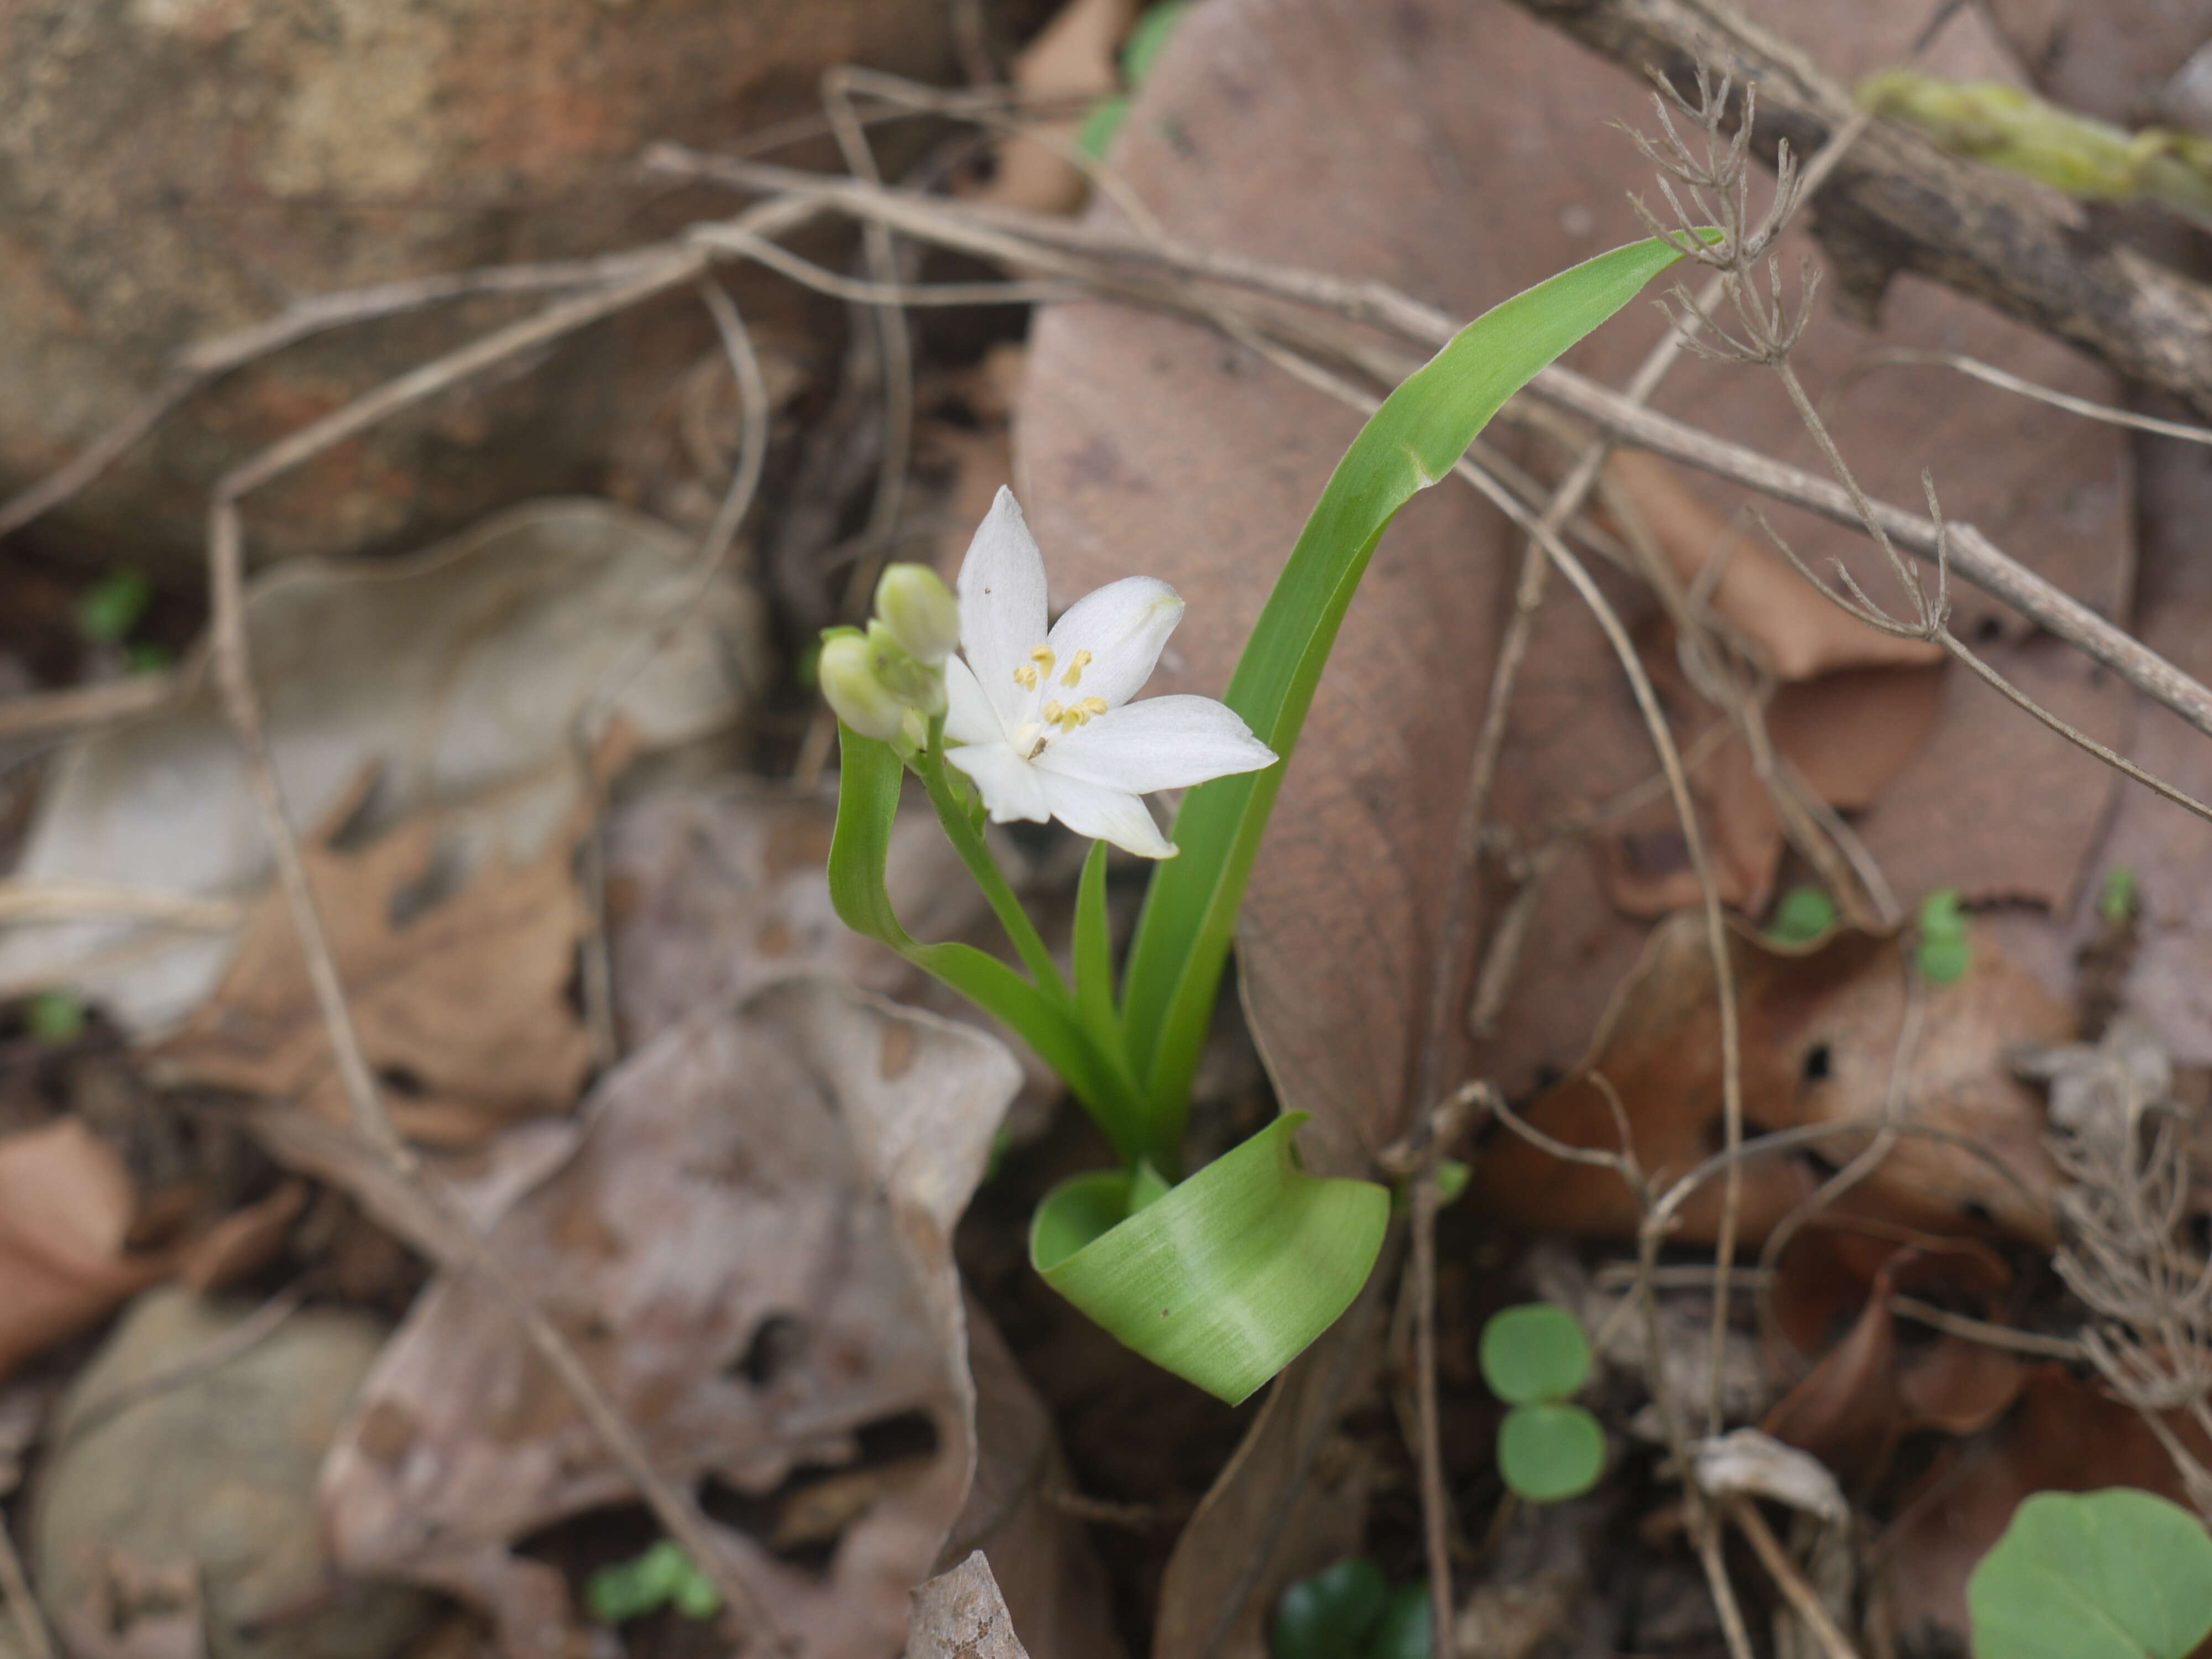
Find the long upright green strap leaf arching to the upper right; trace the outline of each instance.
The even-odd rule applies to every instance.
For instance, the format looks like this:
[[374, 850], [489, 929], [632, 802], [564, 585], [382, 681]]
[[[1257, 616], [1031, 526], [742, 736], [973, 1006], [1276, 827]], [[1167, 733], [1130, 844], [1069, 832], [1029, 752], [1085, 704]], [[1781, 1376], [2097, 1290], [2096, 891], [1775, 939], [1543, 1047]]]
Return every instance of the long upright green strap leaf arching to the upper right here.
[[[1444, 478], [1500, 405], [1681, 254], [1639, 241], [1515, 294], [1460, 330], [1391, 392], [1352, 440], [1245, 644], [1225, 701], [1290, 757], [1352, 593], [1391, 518]], [[1245, 878], [1283, 763], [1190, 792], [1175, 821], [1181, 856], [1152, 876], [1124, 995], [1130, 1055], [1152, 1121], [1179, 1148], [1190, 1077], [1228, 962]]]

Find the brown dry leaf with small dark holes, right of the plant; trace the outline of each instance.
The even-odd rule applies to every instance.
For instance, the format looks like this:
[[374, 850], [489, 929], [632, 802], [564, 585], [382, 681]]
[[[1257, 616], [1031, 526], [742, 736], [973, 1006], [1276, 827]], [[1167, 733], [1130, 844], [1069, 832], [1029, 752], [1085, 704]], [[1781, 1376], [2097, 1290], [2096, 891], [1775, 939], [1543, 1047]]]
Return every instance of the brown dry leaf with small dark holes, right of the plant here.
[[[1526, 1119], [1571, 1146], [1619, 1150], [1604, 1075], [1628, 1115], [1646, 1177], [1666, 1186], [1721, 1148], [1721, 1044], [1703, 916], [1663, 922], [1621, 984], [1590, 1057], [1544, 1091]], [[1865, 1124], [1792, 1157], [1743, 1166], [1741, 1232], [1759, 1243], [1825, 1172], [1847, 1164], [1889, 1110], [1891, 1068], [1911, 987], [1902, 936], [1840, 929], [1809, 949], [1730, 931], [1741, 1009], [1745, 1135], [1807, 1124]], [[2055, 1237], [2057, 1172], [2044, 1150], [2042, 1102], [2013, 1079], [2006, 1053], [2064, 1037], [2070, 1020], [1975, 936], [1962, 980], [1927, 987], [1900, 1091], [1900, 1119], [1955, 1139], [1900, 1135], [1887, 1159], [1834, 1206], [1927, 1232]], [[1568, 1164], [1498, 1128], [1475, 1172], [1486, 1212], [1544, 1232], [1635, 1237], [1639, 1210], [1613, 1172]], [[1679, 1239], [1710, 1241], [1721, 1181], [1681, 1210]]]

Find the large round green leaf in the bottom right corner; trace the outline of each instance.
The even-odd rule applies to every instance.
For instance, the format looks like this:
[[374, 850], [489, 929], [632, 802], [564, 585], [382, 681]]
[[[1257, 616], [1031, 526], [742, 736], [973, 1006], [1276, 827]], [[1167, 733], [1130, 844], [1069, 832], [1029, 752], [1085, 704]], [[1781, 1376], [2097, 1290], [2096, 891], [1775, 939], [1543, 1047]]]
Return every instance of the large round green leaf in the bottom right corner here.
[[2035, 1493], [1966, 1579], [1975, 1659], [2183, 1659], [2212, 1635], [2212, 1537], [2132, 1486]]

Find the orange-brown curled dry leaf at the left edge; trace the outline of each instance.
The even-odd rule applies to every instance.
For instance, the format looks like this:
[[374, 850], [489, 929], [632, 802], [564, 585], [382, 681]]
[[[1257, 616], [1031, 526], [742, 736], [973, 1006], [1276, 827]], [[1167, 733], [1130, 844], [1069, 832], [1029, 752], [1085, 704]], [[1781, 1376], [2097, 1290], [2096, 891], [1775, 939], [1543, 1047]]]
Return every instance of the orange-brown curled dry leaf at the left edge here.
[[299, 1214], [288, 1183], [155, 1250], [133, 1248], [137, 1186], [75, 1117], [0, 1137], [0, 1378], [164, 1279], [206, 1287], [263, 1261]]

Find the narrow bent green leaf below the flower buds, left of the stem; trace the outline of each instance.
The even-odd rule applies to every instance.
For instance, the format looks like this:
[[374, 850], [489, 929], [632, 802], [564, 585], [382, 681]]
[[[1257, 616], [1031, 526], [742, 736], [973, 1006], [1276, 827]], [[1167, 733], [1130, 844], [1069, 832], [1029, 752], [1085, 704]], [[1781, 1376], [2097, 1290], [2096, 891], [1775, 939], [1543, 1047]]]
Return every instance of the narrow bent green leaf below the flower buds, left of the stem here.
[[[883, 887], [883, 872], [891, 856], [891, 823], [898, 816], [905, 765], [889, 743], [849, 728], [838, 728], [838, 745], [836, 830], [830, 836], [830, 902], [838, 920], [854, 933], [889, 945], [925, 973], [1013, 1026], [1044, 1064], [1066, 1079], [1115, 1150], [1137, 1161], [1144, 1148], [1135, 1088], [1128, 1073], [1084, 1029], [1073, 998], [1057, 984], [1057, 973], [1051, 987], [1037, 987], [971, 945], [922, 945], [900, 927], [891, 896]], [[940, 818], [947, 816], [942, 803], [938, 812]], [[958, 803], [953, 816], [960, 816]], [[960, 823], [973, 838], [973, 825], [964, 816]], [[947, 823], [947, 832], [951, 827]]]

